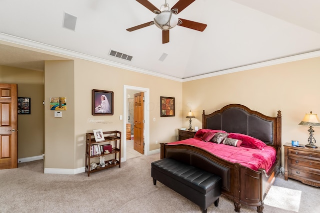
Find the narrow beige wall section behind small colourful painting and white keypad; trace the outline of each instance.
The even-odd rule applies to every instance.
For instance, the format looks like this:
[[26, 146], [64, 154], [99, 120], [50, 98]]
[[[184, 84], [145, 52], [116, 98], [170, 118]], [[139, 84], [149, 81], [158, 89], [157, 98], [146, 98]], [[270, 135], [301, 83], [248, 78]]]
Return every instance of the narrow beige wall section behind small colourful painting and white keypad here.
[[[54, 110], [50, 110], [50, 97], [66, 97], [66, 110], [61, 111], [61, 118], [54, 117]], [[45, 61], [44, 100], [44, 168], [74, 169], [73, 61]]]

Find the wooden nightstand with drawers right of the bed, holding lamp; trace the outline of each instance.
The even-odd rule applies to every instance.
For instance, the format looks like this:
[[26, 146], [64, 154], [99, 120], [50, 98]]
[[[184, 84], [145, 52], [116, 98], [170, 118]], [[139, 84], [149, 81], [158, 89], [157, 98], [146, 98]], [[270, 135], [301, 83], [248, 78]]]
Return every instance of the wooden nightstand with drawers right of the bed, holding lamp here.
[[284, 180], [288, 178], [303, 184], [320, 187], [320, 150], [308, 147], [284, 146]]

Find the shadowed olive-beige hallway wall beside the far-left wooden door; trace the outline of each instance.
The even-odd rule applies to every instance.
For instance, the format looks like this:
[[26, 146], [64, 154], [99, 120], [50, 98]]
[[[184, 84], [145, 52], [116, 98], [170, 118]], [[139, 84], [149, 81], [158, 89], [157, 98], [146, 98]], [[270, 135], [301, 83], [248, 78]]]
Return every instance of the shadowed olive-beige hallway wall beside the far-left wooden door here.
[[18, 115], [18, 159], [44, 153], [44, 73], [0, 66], [0, 82], [17, 84], [18, 97], [31, 98], [31, 114]]

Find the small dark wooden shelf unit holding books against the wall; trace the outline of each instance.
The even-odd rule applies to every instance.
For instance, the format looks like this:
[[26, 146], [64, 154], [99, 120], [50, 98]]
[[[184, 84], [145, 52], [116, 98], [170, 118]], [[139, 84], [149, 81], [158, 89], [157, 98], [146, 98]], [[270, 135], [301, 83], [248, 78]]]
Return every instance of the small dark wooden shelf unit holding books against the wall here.
[[[121, 132], [119, 131], [107, 131], [107, 132], [102, 132], [104, 136], [104, 141], [98, 141], [96, 142], [94, 139], [93, 133], [86, 133], [85, 134], [85, 172], [87, 172], [88, 177], [90, 176], [90, 173], [92, 172], [97, 172], [101, 170], [105, 170], [111, 167], [119, 166], [121, 167]], [[116, 138], [107, 138], [108, 136], [116, 136]], [[110, 144], [111, 145], [111, 152], [108, 154], [98, 154], [98, 155], [90, 155], [90, 147], [91, 145], [106, 145]], [[95, 169], [90, 171], [90, 164], [92, 162], [96, 163], [99, 161], [100, 156], [112, 156], [114, 157], [112, 159], [106, 159], [105, 160], [105, 167], [96, 167]], [[95, 160], [93, 160], [96, 158]], [[112, 161], [111, 164], [108, 162]], [[115, 163], [114, 163], [115, 162]], [[99, 163], [96, 163], [99, 165]]]

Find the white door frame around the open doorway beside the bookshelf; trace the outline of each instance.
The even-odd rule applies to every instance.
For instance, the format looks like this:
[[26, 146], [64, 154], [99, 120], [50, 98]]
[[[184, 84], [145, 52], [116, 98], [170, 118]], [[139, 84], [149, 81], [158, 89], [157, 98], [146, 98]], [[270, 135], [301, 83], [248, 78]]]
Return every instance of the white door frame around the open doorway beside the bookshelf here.
[[[138, 92], [144, 92], [144, 107], [143, 107], [143, 115], [144, 115], [144, 155], [149, 154], [150, 150], [150, 115], [149, 115], [149, 88], [143, 87], [136, 87], [136, 86], [129, 86], [123, 85], [123, 131], [126, 130], [126, 118], [127, 118], [127, 90], [135, 90]], [[126, 134], [122, 134], [122, 141], [123, 141], [123, 158], [121, 159], [122, 162], [126, 161]]]

